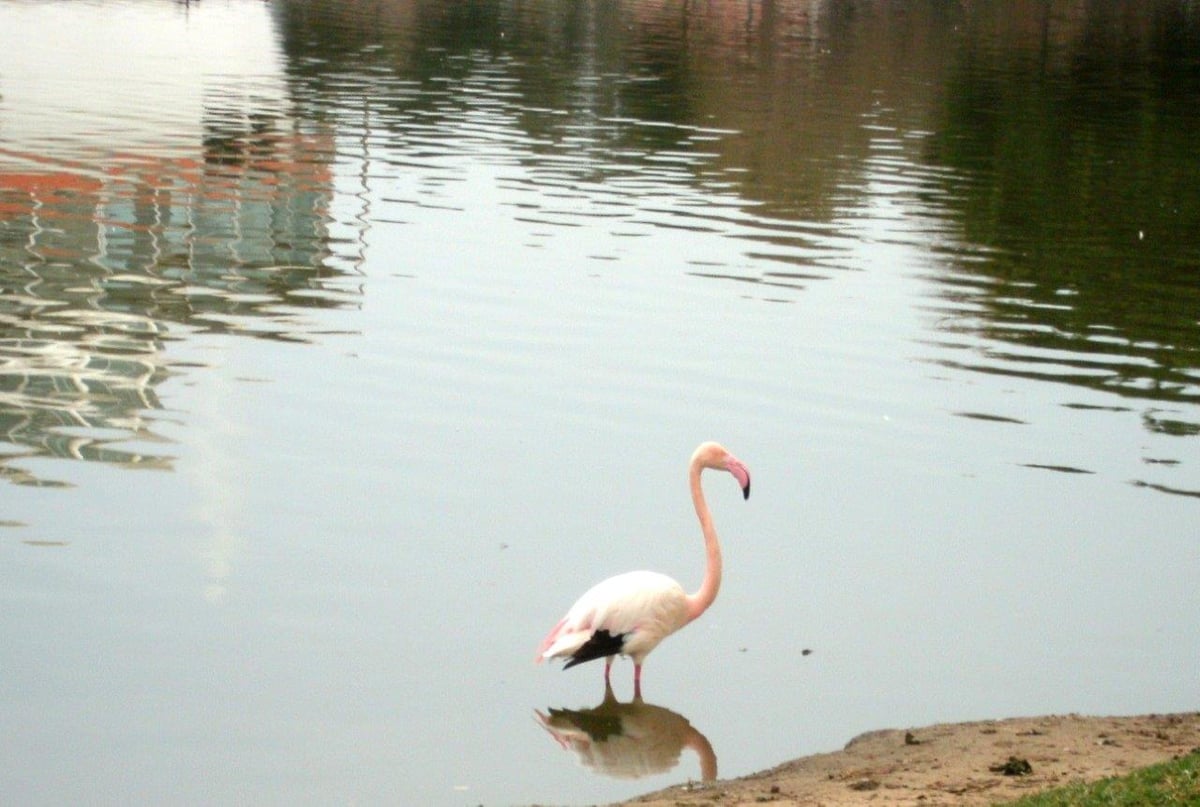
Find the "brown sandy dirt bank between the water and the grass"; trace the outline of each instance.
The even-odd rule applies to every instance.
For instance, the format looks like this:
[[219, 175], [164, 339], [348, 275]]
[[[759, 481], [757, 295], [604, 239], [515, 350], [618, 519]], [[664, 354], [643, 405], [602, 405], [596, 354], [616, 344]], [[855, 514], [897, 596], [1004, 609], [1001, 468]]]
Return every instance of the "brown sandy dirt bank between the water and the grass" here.
[[632, 799], [638, 807], [934, 807], [992, 805], [1092, 782], [1200, 747], [1200, 712], [1061, 715], [859, 735], [842, 751], [758, 773]]

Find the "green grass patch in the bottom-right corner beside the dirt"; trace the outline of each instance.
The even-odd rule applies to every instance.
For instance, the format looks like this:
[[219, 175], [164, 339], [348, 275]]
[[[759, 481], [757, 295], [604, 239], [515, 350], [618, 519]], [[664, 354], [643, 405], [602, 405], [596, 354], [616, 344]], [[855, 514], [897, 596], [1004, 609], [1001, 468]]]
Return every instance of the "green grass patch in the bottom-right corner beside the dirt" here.
[[1200, 748], [1128, 776], [1068, 784], [1004, 807], [1195, 807], [1200, 805]]

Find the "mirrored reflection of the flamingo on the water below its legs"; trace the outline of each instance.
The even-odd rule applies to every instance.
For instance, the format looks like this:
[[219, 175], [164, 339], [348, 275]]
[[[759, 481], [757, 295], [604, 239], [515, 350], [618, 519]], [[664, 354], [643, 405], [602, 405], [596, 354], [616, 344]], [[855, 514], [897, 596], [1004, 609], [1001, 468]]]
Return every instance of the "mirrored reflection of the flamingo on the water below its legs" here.
[[599, 706], [548, 712], [535, 710], [542, 728], [596, 773], [620, 779], [662, 773], [678, 765], [683, 749], [690, 748], [700, 758], [700, 778], [716, 778], [716, 754], [708, 739], [688, 718], [641, 697], [623, 704], [606, 685]]

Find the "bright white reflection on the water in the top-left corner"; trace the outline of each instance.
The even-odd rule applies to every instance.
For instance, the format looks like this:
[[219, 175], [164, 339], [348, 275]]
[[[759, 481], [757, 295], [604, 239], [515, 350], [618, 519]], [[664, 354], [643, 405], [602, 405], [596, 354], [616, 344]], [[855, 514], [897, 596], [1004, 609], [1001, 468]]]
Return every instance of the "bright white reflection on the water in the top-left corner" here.
[[[270, 18], [223, 4], [188, 13], [179, 4], [6, 2], [4, 145], [30, 165], [97, 157], [192, 157], [218, 102], [244, 113], [281, 96], [282, 60]], [[55, 38], [44, 49], [23, 47]], [[126, 38], [128, 37], [128, 38]], [[114, 44], [137, 42], [137, 58]], [[78, 169], [74, 165], [72, 168]], [[91, 165], [102, 178], [106, 166]]]

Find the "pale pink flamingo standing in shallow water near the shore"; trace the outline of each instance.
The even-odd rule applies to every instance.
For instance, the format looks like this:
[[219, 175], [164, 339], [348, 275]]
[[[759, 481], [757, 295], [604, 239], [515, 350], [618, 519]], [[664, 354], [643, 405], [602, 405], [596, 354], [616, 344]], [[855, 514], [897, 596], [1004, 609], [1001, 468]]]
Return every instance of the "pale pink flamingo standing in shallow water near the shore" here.
[[688, 484], [696, 518], [704, 533], [704, 579], [694, 594], [658, 572], [628, 572], [608, 578], [580, 597], [566, 616], [542, 639], [535, 660], [568, 659], [563, 669], [605, 659], [605, 687], [616, 656], [634, 660], [634, 698], [642, 697], [642, 664], [652, 650], [684, 627], [716, 599], [721, 587], [721, 545], [713, 528], [713, 516], [704, 501], [700, 474], [706, 468], [727, 471], [750, 498], [750, 471], [738, 458], [718, 443], [701, 443], [688, 466]]

